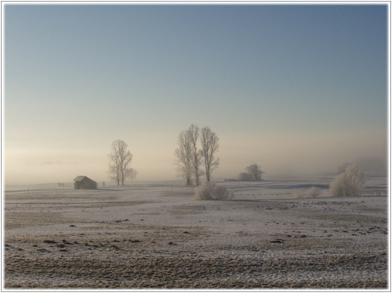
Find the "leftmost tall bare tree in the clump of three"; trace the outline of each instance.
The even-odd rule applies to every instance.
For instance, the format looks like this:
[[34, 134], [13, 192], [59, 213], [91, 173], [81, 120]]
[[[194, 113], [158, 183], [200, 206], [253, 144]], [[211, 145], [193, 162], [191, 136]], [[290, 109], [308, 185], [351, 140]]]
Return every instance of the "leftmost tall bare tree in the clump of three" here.
[[191, 142], [188, 131], [183, 131], [178, 135], [178, 148], [174, 151], [177, 172], [185, 179], [185, 185], [192, 185], [192, 160]]

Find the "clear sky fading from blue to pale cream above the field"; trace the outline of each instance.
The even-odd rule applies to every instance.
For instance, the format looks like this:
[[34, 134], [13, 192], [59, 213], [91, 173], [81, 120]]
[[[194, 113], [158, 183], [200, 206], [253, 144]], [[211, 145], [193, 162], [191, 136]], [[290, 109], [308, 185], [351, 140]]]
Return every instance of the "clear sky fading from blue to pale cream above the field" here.
[[191, 124], [219, 138], [212, 180], [387, 167], [389, 10], [3, 3], [3, 180], [109, 182], [117, 139], [137, 180], [176, 180]]

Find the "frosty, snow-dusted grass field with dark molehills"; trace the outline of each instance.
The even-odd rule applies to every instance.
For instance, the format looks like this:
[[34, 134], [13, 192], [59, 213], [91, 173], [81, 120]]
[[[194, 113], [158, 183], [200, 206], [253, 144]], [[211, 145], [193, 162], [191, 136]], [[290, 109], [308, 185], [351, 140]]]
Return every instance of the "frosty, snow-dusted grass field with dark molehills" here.
[[219, 182], [231, 201], [179, 181], [6, 186], [3, 286], [387, 290], [387, 178], [353, 198], [328, 197], [332, 179]]

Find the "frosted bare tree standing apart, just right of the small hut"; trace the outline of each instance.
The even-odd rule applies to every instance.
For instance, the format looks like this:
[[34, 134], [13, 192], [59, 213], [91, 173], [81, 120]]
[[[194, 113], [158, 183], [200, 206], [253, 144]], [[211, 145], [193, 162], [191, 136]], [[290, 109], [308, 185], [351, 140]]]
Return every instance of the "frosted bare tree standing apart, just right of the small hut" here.
[[128, 150], [128, 145], [122, 140], [112, 143], [112, 150], [108, 154], [110, 178], [117, 181], [117, 185], [124, 185], [124, 180], [130, 175], [130, 162], [132, 153]]

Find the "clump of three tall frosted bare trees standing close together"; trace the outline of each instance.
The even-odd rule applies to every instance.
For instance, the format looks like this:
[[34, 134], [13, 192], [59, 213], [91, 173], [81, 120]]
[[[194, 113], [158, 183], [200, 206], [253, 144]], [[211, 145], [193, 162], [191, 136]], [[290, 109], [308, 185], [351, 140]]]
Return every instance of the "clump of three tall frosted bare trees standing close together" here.
[[[215, 158], [215, 153], [219, 150], [218, 141], [218, 137], [208, 126], [200, 131], [198, 125], [192, 124], [179, 134], [174, 164], [177, 165], [178, 175], [185, 179], [185, 185], [192, 185], [194, 180], [199, 186], [203, 175], [207, 176], [208, 182], [211, 180], [212, 171], [219, 166], [219, 158]], [[203, 166], [206, 171], [202, 170]]]

